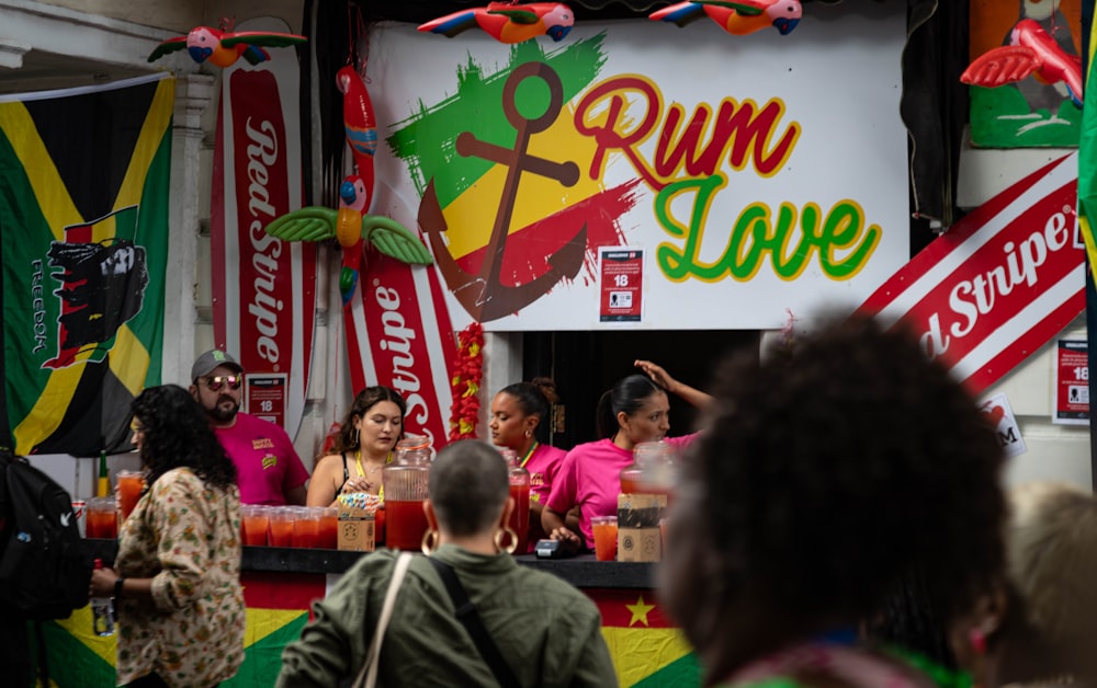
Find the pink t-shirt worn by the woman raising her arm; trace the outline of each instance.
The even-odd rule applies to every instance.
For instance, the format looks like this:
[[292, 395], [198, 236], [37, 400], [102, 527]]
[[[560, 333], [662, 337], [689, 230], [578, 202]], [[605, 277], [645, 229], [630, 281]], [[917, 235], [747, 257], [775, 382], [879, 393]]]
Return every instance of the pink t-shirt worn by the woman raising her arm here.
[[[697, 433], [664, 440], [681, 451]], [[593, 547], [595, 532], [590, 519], [617, 514], [617, 497], [621, 494], [621, 469], [633, 461], [632, 451], [622, 449], [612, 439], [599, 439], [576, 445], [559, 467], [546, 506], [566, 514], [579, 505], [579, 530], [587, 548]]]

